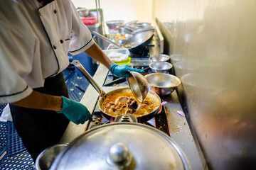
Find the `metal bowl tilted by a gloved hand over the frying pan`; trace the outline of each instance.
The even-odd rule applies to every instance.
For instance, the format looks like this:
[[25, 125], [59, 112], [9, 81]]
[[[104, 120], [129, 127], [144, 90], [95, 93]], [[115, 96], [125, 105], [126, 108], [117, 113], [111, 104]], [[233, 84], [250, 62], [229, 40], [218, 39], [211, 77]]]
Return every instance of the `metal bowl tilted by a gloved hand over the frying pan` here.
[[149, 83], [142, 74], [139, 74], [138, 72], [130, 73], [132, 74], [132, 77], [127, 78], [129, 87], [132, 90], [132, 94], [134, 94], [135, 98], [142, 103], [146, 98], [146, 95], [149, 93]]

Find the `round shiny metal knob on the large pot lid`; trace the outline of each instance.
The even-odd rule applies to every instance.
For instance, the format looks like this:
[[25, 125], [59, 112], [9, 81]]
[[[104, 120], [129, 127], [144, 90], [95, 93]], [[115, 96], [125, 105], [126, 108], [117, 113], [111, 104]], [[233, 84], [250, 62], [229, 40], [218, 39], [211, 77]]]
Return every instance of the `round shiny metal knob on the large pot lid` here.
[[112, 145], [108, 154], [107, 163], [118, 169], [129, 166], [133, 159], [128, 147], [121, 142]]

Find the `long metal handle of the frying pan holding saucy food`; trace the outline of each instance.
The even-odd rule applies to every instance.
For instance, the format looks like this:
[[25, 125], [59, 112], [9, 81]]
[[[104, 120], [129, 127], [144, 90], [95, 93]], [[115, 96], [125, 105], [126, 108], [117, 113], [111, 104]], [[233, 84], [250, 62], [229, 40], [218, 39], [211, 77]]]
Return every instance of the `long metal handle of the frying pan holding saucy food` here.
[[87, 81], [92, 84], [92, 86], [95, 88], [95, 90], [100, 94], [100, 96], [104, 96], [106, 93], [103, 91], [103, 89], [100, 87], [99, 84], [91, 77], [91, 75], [86, 71], [85, 67], [82, 66], [82, 64], [78, 60], [74, 60], [73, 64], [75, 67], [79, 69], [79, 71], [82, 73], [82, 75], [85, 76]]

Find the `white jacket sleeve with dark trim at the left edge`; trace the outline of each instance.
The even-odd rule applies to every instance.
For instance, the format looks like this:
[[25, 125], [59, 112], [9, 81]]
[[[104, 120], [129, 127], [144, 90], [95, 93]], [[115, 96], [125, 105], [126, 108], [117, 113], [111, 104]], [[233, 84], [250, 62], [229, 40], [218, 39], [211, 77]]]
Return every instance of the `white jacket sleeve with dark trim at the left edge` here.
[[32, 69], [33, 48], [11, 25], [0, 21], [0, 28], [0, 103], [12, 103], [33, 91], [24, 78]]

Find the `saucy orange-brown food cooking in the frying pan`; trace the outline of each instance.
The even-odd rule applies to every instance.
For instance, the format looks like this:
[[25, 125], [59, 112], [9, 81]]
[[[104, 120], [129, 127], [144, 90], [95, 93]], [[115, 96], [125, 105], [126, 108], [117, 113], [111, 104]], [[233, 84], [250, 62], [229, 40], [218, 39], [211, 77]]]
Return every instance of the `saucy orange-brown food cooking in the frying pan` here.
[[139, 117], [155, 111], [157, 106], [159, 106], [159, 101], [154, 94], [149, 93], [143, 103], [139, 103], [132, 91], [110, 94], [102, 103], [103, 111], [112, 116], [132, 114]]

